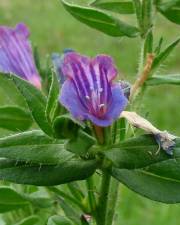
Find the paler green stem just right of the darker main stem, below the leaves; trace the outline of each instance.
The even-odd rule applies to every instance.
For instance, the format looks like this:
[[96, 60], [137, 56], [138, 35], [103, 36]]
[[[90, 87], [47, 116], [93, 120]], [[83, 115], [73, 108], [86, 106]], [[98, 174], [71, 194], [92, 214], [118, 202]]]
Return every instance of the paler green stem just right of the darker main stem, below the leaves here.
[[119, 181], [112, 178], [110, 192], [108, 196], [108, 210], [106, 214], [106, 225], [112, 225], [113, 223], [116, 203], [118, 199], [118, 191], [119, 191]]

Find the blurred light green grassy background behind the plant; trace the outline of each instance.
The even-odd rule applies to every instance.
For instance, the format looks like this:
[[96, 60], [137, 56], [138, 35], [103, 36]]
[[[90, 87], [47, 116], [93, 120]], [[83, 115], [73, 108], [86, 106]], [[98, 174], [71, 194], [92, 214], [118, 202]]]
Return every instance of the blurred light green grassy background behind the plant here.
[[[82, 1], [81, 1], [82, 2]], [[132, 18], [133, 20], [133, 18]], [[15, 26], [26, 23], [31, 31], [31, 40], [39, 46], [42, 57], [64, 48], [94, 56], [100, 53], [111, 55], [122, 78], [135, 80], [140, 40], [111, 38], [81, 24], [69, 15], [59, 0], [0, 0], [0, 24]], [[164, 45], [180, 36], [179, 26], [162, 16], [157, 17], [155, 43], [164, 37]], [[159, 74], [180, 73], [180, 46], [158, 71]], [[0, 103], [6, 104], [14, 95], [0, 87]], [[3, 97], [6, 95], [6, 98]], [[180, 136], [180, 87], [157, 86], [149, 88], [144, 99], [144, 112], [160, 129], [167, 129]], [[178, 225], [180, 205], [165, 205], [147, 200], [121, 186], [116, 215], [117, 225]]]

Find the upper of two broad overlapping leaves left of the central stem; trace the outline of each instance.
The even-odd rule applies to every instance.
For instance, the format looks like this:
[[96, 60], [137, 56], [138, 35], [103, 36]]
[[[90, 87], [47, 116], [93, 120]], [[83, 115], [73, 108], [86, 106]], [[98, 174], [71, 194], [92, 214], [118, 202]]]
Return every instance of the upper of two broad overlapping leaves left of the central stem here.
[[62, 141], [42, 131], [28, 131], [0, 138], [0, 157], [40, 164], [58, 164], [72, 159]]

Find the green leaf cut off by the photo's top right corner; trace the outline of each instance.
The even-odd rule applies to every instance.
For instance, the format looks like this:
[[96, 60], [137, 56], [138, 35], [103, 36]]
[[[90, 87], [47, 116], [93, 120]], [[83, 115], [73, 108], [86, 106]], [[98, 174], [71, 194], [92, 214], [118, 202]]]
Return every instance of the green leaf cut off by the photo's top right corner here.
[[171, 22], [180, 24], [180, 0], [158, 4], [157, 9]]

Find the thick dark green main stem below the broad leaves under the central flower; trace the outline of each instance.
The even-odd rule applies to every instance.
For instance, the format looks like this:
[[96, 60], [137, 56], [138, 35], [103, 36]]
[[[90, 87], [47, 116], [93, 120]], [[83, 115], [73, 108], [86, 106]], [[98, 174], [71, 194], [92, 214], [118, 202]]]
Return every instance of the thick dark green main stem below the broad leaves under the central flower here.
[[96, 218], [97, 225], [106, 224], [106, 212], [107, 212], [110, 181], [111, 181], [110, 174], [107, 173], [106, 171], [103, 171], [100, 197], [97, 206], [97, 213], [98, 213], [98, 217]]

